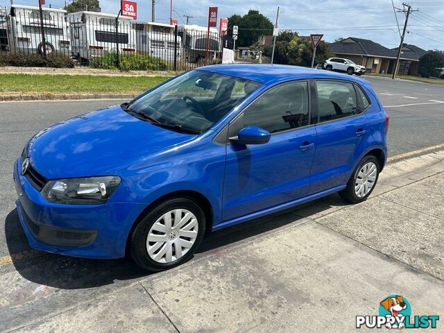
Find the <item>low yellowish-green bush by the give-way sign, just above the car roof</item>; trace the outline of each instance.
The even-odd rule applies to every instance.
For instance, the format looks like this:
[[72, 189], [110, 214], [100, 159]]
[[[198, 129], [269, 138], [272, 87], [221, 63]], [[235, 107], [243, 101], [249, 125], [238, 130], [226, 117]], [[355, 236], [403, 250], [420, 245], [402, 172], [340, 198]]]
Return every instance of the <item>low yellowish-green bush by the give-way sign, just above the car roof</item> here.
[[[273, 46], [264, 48], [264, 56], [271, 57]], [[310, 37], [300, 36], [293, 31], [281, 31], [276, 37], [274, 62], [276, 64], [311, 66], [311, 58], [313, 57], [313, 45]], [[314, 64], [325, 62], [327, 58], [333, 54], [328, 49], [327, 44], [321, 41], [316, 48], [316, 56]]]

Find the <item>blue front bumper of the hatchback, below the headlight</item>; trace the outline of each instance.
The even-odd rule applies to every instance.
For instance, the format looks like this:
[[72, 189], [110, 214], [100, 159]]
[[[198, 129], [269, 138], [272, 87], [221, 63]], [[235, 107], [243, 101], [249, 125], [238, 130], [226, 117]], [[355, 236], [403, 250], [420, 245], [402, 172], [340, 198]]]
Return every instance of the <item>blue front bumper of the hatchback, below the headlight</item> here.
[[29, 245], [37, 250], [74, 257], [112, 259], [125, 255], [130, 229], [144, 209], [137, 203], [61, 205], [44, 200], [14, 167], [17, 212]]

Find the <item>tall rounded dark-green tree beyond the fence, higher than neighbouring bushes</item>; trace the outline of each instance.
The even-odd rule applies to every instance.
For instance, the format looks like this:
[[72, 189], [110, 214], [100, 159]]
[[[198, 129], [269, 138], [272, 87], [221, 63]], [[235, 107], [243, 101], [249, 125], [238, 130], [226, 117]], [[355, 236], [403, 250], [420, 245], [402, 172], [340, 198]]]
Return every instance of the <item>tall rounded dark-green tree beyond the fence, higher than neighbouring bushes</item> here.
[[237, 44], [239, 46], [251, 46], [262, 35], [273, 33], [273, 23], [257, 10], [250, 9], [244, 16], [234, 14], [228, 17], [228, 30], [233, 26], [239, 26]]

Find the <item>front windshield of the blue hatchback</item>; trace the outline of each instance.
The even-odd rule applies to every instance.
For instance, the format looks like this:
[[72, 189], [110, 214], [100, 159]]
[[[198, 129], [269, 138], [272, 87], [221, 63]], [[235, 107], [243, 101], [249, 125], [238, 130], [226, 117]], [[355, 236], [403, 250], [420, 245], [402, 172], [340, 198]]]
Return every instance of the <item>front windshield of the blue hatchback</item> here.
[[123, 103], [122, 108], [157, 126], [203, 133], [259, 86], [251, 80], [194, 69]]

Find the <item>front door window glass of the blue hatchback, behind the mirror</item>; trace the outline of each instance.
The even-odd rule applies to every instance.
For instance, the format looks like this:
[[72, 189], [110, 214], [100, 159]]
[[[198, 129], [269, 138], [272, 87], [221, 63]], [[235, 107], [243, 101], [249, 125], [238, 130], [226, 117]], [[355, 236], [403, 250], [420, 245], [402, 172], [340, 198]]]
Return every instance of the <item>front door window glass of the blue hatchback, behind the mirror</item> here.
[[270, 133], [307, 126], [307, 82], [280, 85], [268, 90], [244, 112], [244, 126], [259, 126]]

